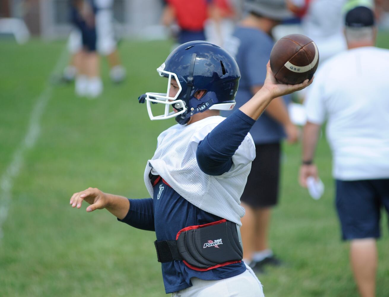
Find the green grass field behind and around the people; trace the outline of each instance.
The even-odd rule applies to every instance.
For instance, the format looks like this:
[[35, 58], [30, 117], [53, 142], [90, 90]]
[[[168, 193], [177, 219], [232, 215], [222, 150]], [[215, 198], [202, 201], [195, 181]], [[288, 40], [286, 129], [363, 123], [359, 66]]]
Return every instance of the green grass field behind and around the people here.
[[[381, 35], [380, 44], [389, 47], [388, 35]], [[63, 42], [2, 42], [0, 176], [11, 181], [11, 195], [8, 202], [0, 197], [0, 207], [7, 210], [6, 220], [0, 221], [0, 296], [165, 295], [152, 232], [118, 223], [105, 210], [86, 213], [85, 206], [75, 210], [68, 203], [72, 193], [89, 186], [131, 198], [148, 196], [145, 163], [157, 135], [174, 120], [150, 121], [137, 97], [165, 89], [155, 70], [170, 46], [164, 41], [123, 42], [128, 79], [111, 84], [103, 62], [104, 93], [87, 100], [76, 98], [72, 85], [49, 84]], [[29, 148], [30, 114], [45, 96], [40, 134]], [[16, 173], [10, 171], [15, 158], [23, 161]], [[270, 236], [284, 265], [259, 275], [267, 297], [357, 296], [348, 245], [340, 241], [324, 138], [316, 160], [326, 185], [318, 201], [297, 184], [300, 145], [284, 146], [281, 203]], [[382, 227], [377, 296], [388, 296], [386, 216]]]

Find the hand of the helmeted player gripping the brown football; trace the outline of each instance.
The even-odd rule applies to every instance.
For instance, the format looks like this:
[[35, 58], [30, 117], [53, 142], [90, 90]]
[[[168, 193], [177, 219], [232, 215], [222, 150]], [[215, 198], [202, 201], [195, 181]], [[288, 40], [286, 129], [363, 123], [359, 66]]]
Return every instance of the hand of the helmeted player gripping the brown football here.
[[277, 98], [306, 88], [312, 83], [313, 79], [314, 77], [310, 81], [306, 79], [301, 84], [281, 84], [275, 79], [272, 69], [270, 69], [269, 61], [266, 65], [266, 79], [262, 89], [270, 92], [272, 98]]

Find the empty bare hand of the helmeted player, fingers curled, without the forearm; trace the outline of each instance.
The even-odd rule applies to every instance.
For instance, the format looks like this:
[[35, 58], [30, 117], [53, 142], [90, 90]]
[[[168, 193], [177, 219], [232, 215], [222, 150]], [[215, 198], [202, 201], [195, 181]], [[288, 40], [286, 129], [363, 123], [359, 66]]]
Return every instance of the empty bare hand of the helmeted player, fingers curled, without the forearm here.
[[97, 188], [88, 188], [82, 192], [74, 193], [70, 198], [70, 205], [80, 208], [83, 200], [91, 204], [86, 208], [88, 213], [95, 209], [103, 209], [109, 204], [108, 196]]

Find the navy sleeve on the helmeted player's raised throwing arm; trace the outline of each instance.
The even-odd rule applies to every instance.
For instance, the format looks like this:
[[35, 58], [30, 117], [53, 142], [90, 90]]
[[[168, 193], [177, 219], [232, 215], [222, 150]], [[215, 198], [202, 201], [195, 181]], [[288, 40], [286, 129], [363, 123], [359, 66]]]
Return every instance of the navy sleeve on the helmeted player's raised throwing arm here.
[[255, 120], [237, 109], [199, 142], [196, 158], [200, 169], [208, 175], [228, 172], [232, 156], [249, 133]]

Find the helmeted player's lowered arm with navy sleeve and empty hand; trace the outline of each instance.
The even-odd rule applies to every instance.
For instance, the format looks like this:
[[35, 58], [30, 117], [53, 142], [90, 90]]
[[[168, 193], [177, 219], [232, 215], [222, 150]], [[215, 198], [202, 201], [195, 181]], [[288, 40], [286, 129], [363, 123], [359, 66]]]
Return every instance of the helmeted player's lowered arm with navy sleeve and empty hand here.
[[91, 204], [86, 208], [88, 213], [105, 208], [119, 221], [138, 229], [154, 231], [154, 208], [151, 198], [127, 199], [123, 196], [103, 193], [97, 188], [88, 188], [74, 193], [70, 198], [70, 205], [80, 208], [83, 200]]

